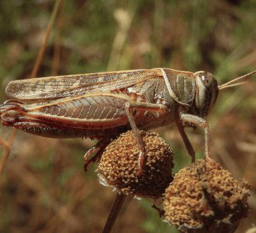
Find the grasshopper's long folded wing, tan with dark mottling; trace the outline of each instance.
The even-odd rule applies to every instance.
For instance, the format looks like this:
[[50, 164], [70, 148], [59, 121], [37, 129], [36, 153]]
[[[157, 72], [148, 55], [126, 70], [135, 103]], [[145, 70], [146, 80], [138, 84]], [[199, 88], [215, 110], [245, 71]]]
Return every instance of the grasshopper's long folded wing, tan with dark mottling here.
[[14, 99], [47, 100], [93, 91], [111, 91], [161, 76], [158, 70], [126, 70], [11, 81], [6, 94]]

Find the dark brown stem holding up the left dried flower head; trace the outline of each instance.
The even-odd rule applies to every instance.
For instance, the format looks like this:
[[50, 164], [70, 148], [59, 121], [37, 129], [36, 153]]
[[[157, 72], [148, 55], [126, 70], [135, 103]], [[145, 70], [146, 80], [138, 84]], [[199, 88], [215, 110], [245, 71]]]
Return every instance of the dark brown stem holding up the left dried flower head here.
[[112, 205], [112, 208], [111, 208], [111, 212], [109, 213], [109, 217], [107, 219], [107, 223], [106, 223], [102, 233], [110, 233], [111, 232], [111, 230], [113, 228], [113, 225], [115, 224], [116, 219], [118, 217], [118, 214], [119, 214], [119, 212], [120, 212], [120, 210], [122, 208], [122, 204], [125, 201], [125, 197], [126, 196], [127, 195], [125, 195], [123, 193], [116, 194], [116, 199], [113, 202], [113, 205]]

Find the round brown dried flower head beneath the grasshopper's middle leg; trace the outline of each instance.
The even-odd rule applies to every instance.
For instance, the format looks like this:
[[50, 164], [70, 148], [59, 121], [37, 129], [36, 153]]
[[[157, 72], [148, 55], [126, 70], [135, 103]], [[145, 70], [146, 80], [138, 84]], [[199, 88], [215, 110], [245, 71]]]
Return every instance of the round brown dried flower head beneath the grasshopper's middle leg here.
[[140, 131], [140, 136], [145, 148], [142, 174], [139, 174], [139, 150], [134, 132], [128, 131], [104, 150], [98, 176], [103, 185], [112, 186], [124, 194], [158, 199], [173, 179], [174, 153], [156, 132]]

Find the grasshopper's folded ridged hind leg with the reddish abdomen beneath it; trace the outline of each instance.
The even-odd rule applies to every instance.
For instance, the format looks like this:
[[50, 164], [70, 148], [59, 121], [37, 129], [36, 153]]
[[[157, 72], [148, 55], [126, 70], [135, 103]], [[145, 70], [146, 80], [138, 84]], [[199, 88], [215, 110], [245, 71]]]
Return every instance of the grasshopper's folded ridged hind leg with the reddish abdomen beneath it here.
[[1, 123], [30, 134], [51, 138], [101, 138], [127, 125], [127, 97], [90, 94], [44, 103], [7, 101], [0, 106]]

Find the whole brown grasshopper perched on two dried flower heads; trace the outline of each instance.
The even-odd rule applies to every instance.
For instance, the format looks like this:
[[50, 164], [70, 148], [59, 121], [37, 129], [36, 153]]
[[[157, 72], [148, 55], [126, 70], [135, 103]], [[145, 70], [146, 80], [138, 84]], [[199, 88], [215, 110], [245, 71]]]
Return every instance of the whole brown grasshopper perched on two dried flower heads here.
[[86, 153], [86, 161], [91, 152], [100, 152], [113, 135], [131, 128], [138, 143], [140, 171], [144, 148], [138, 129], [150, 130], [175, 122], [194, 163], [195, 152], [184, 128], [199, 125], [205, 128], [205, 159], [214, 163], [205, 117], [219, 90], [239, 85], [231, 83], [255, 73], [223, 85], [218, 85], [209, 72], [166, 68], [11, 81], [6, 94], [14, 100], [0, 105], [1, 123], [51, 138], [102, 139]]

